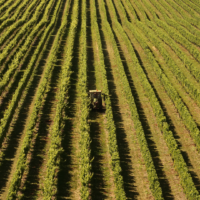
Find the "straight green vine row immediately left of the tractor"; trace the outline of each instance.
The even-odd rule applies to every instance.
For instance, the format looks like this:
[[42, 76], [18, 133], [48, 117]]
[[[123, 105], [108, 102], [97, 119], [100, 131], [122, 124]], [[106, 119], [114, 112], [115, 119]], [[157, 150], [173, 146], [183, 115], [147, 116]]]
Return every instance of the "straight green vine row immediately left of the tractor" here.
[[89, 99], [87, 94], [87, 8], [86, 0], [82, 0], [81, 5], [81, 31], [80, 31], [80, 76], [78, 88], [81, 97], [80, 114], [80, 181], [81, 181], [81, 199], [89, 199], [89, 183], [92, 178], [91, 151], [90, 151], [90, 127], [88, 124]]

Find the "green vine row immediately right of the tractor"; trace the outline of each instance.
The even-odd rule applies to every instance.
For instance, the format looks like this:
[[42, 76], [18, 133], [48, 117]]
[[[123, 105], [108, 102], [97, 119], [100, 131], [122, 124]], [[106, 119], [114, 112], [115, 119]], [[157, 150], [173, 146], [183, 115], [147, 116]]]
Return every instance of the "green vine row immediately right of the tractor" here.
[[121, 167], [120, 167], [120, 157], [118, 152], [118, 145], [116, 139], [116, 127], [113, 120], [113, 112], [112, 112], [112, 105], [109, 96], [109, 88], [108, 88], [108, 80], [107, 80], [107, 73], [104, 63], [104, 55], [101, 43], [101, 37], [99, 33], [99, 26], [97, 23], [97, 14], [95, 10], [95, 3], [91, 0], [91, 13], [92, 13], [92, 20], [91, 20], [91, 29], [92, 35], [94, 40], [97, 42], [98, 45], [98, 53], [99, 53], [99, 68], [101, 69], [102, 73], [102, 83], [103, 83], [103, 91], [106, 94], [105, 105], [106, 105], [106, 127], [109, 133], [109, 153], [111, 156], [111, 166], [114, 175], [114, 183], [115, 183], [115, 197], [116, 199], [125, 199], [125, 191], [124, 191], [124, 182], [123, 177], [121, 175]]

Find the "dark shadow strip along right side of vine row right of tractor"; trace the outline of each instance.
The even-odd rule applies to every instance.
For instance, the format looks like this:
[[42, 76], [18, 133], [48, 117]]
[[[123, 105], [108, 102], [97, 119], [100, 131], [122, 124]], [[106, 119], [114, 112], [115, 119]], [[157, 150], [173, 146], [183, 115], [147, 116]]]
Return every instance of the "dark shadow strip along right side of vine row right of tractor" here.
[[[97, 4], [97, 1], [96, 1], [96, 4]], [[108, 21], [111, 23], [111, 18], [107, 10], [107, 7], [106, 7], [106, 11], [107, 11], [107, 16], [108, 16]], [[97, 12], [97, 16], [100, 19], [99, 11]], [[104, 33], [101, 29], [100, 24], [101, 23], [99, 22], [101, 41], [103, 45], [103, 54], [104, 54], [104, 59], [105, 59], [106, 71], [107, 71], [108, 87], [111, 94], [113, 116], [114, 116], [114, 121], [115, 121], [115, 126], [116, 126], [116, 136], [117, 136], [118, 150], [119, 150], [119, 156], [120, 156], [120, 165], [122, 168], [121, 174], [124, 179], [124, 188], [125, 188], [127, 198], [134, 199], [134, 198], [137, 198], [138, 192], [136, 191], [136, 188], [134, 187], [134, 182], [135, 182], [134, 177], [131, 175], [133, 163], [131, 162], [131, 159], [129, 156], [130, 149], [128, 148], [126, 133], [123, 128], [124, 122], [122, 120], [122, 116], [119, 110], [119, 100], [118, 100], [119, 97], [116, 94], [116, 86], [114, 83], [112, 67], [116, 67], [116, 66], [111, 66]]]

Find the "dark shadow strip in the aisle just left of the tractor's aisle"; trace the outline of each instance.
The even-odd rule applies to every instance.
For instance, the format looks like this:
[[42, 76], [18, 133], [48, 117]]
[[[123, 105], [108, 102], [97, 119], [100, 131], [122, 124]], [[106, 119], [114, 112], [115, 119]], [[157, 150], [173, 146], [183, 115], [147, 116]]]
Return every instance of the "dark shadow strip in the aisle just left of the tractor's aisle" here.
[[[63, 153], [61, 154], [60, 161], [60, 171], [58, 172], [58, 182], [57, 182], [57, 199], [66, 199], [66, 197], [71, 197], [71, 187], [70, 182], [72, 180], [71, 172], [73, 169], [79, 168], [78, 160], [77, 164], [73, 164], [72, 157], [74, 156], [74, 149], [72, 148], [73, 138], [75, 137], [72, 133], [73, 130], [73, 120], [75, 119], [76, 110], [76, 100], [78, 98], [78, 71], [79, 71], [79, 42], [80, 42], [80, 31], [81, 31], [81, 4], [82, 0], [79, 1], [79, 16], [78, 16], [78, 27], [74, 40], [74, 52], [72, 59], [71, 71], [73, 73], [70, 77], [70, 88], [68, 90], [68, 106], [65, 109], [65, 113], [70, 120], [65, 121], [65, 127], [63, 129], [62, 138], [62, 148]], [[72, 12], [71, 14], [72, 15]]]

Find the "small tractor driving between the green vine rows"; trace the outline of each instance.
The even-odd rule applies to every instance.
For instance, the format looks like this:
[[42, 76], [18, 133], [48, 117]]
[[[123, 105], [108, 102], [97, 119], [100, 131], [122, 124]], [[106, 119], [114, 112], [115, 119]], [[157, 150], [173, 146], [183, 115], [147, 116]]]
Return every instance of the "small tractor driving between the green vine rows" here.
[[101, 90], [89, 90], [90, 107], [93, 110], [102, 110], [102, 96], [105, 102], [105, 94]]

